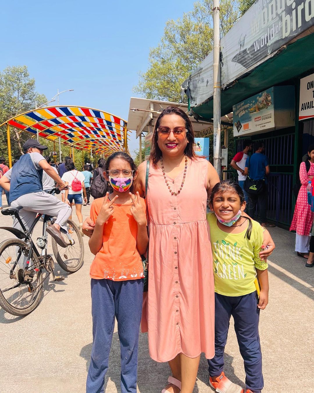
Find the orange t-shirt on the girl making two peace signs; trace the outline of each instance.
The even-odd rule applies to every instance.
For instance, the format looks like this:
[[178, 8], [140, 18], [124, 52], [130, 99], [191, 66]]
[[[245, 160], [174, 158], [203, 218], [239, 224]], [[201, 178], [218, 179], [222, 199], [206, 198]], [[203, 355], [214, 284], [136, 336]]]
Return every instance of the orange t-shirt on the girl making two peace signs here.
[[[91, 204], [90, 216], [96, 222], [104, 198], [97, 198]], [[144, 212], [145, 201], [141, 198]], [[95, 279], [113, 281], [137, 280], [144, 277], [142, 260], [136, 248], [137, 222], [130, 208], [132, 203], [125, 205], [113, 204], [114, 212], [104, 224], [102, 248], [97, 252], [89, 275]]]

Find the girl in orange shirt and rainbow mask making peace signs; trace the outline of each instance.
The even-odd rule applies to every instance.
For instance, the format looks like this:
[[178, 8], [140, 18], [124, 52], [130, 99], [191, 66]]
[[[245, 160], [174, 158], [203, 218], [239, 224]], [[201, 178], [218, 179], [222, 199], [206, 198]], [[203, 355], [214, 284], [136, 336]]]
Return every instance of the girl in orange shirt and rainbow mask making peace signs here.
[[95, 228], [89, 248], [95, 259], [90, 268], [93, 348], [86, 392], [104, 391], [116, 317], [121, 392], [136, 393], [144, 277], [141, 254], [148, 246], [146, 207], [138, 192], [127, 192], [132, 191], [137, 177], [137, 168], [128, 154], [111, 154], [104, 175], [113, 192], [95, 199], [90, 212]]

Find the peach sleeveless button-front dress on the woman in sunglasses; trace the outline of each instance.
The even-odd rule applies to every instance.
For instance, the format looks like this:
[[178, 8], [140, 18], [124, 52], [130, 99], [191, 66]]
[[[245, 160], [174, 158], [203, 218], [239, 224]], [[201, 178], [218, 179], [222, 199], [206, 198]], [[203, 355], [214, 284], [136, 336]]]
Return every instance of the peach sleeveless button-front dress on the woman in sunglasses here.
[[[189, 160], [177, 196], [170, 194], [161, 168], [150, 165], [147, 324], [150, 356], [157, 362], [172, 360], [179, 353], [195, 358], [204, 352], [208, 359], [215, 354], [207, 165], [203, 158]], [[179, 190], [182, 179], [183, 172], [175, 179], [167, 178], [172, 191]]]

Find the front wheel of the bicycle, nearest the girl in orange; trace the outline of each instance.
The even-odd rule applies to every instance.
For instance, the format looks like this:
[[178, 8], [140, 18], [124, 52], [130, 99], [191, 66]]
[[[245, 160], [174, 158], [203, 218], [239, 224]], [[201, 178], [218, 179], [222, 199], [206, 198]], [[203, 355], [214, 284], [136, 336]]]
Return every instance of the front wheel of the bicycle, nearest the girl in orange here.
[[68, 235], [64, 236], [68, 246], [66, 248], [57, 244], [52, 238], [52, 249], [58, 264], [68, 273], [77, 272], [82, 267], [84, 258], [84, 243], [77, 225], [68, 220]]

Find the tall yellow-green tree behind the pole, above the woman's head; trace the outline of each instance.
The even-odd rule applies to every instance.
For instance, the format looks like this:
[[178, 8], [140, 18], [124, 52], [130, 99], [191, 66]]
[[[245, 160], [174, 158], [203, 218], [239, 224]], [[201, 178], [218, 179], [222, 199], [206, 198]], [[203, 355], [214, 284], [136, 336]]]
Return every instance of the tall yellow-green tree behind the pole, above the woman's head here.
[[[148, 99], [181, 101], [181, 84], [212, 51], [212, 0], [194, 3], [182, 18], [168, 20], [160, 44], [149, 54], [149, 67], [139, 74], [136, 93]], [[220, 31], [225, 35], [240, 16], [238, 0], [222, 0]]]

